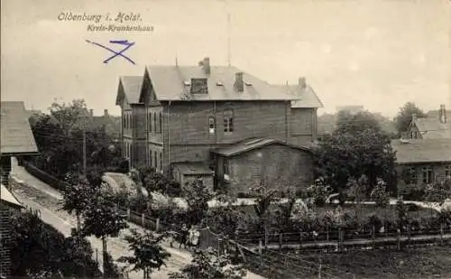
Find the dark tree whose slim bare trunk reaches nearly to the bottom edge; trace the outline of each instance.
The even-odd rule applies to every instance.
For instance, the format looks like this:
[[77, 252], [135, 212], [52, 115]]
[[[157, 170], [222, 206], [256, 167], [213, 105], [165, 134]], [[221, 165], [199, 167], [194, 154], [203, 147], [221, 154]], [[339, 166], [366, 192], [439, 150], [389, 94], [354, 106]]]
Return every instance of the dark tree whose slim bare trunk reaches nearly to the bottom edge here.
[[87, 204], [85, 209], [82, 231], [85, 236], [95, 236], [102, 239], [104, 256], [104, 274], [106, 276], [109, 270], [106, 266], [107, 237], [117, 237], [119, 232], [128, 228], [124, 215], [121, 215], [115, 205], [115, 195], [108, 192], [97, 191], [97, 195]]

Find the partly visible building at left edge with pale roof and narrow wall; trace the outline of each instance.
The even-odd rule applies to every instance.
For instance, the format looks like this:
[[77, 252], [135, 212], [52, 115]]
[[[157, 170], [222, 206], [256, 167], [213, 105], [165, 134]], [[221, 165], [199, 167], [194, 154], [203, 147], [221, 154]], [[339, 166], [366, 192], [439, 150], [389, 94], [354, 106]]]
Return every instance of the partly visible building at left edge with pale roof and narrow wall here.
[[38, 148], [32, 135], [28, 121], [29, 114], [25, 111], [23, 102], [0, 103], [0, 172], [1, 172], [1, 202], [0, 202], [0, 273], [7, 276], [10, 268], [9, 256], [9, 218], [12, 210], [22, 205], [8, 190], [9, 174], [11, 172], [11, 157], [21, 157], [38, 153]]

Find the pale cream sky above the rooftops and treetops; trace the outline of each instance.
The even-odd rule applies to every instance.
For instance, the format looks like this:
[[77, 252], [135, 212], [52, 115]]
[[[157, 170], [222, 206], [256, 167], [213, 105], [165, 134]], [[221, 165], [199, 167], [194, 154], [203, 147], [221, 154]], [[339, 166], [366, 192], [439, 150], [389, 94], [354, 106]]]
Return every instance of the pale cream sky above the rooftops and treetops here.
[[[39, 5], [38, 5], [39, 3]], [[57, 98], [84, 98], [118, 115], [118, 79], [145, 65], [231, 64], [272, 84], [305, 77], [324, 103], [395, 116], [407, 101], [451, 107], [451, 1], [447, 0], [4, 0], [1, 99], [46, 110]], [[140, 14], [153, 32], [89, 32], [61, 13]], [[227, 28], [227, 14], [230, 25]], [[230, 48], [228, 40], [230, 38]], [[86, 42], [98, 42], [135, 62]], [[230, 56], [228, 55], [230, 53]]]

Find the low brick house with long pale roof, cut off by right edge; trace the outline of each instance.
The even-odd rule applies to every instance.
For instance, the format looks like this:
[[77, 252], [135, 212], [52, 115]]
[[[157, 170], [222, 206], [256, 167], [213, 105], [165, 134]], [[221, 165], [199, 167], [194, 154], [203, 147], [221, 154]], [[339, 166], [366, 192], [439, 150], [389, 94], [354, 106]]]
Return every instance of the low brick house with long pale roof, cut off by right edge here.
[[451, 176], [451, 140], [401, 139], [391, 146], [399, 177], [407, 184], [429, 184]]

